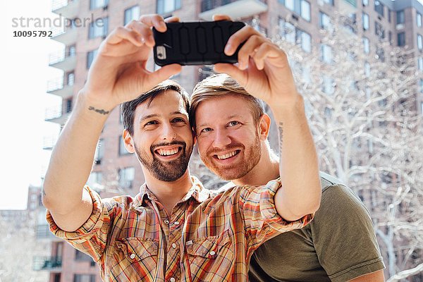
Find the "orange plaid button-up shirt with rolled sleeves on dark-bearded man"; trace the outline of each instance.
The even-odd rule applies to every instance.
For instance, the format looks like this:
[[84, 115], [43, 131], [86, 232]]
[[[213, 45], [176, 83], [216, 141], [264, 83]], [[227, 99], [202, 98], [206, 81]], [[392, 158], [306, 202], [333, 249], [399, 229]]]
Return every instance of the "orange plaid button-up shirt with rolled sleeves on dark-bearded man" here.
[[168, 216], [146, 185], [134, 197], [102, 200], [90, 192], [90, 218], [62, 231], [47, 212], [54, 235], [90, 255], [104, 281], [247, 281], [252, 252], [278, 233], [312, 219], [284, 221], [274, 207], [280, 180], [263, 186], [204, 189], [197, 178]]

